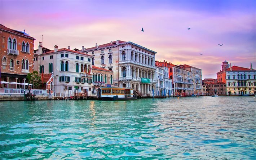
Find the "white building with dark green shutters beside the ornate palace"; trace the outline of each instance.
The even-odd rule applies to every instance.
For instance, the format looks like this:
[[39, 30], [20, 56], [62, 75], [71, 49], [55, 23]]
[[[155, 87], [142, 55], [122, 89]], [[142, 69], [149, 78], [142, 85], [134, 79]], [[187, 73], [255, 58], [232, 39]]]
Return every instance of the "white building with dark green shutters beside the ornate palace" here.
[[[39, 42], [37, 53], [34, 54], [34, 65], [43, 77], [49, 78], [53, 75], [50, 82], [50, 90], [54, 93], [88, 93], [92, 91], [92, 56], [80, 53], [68, 48], [58, 49], [43, 53], [43, 47]], [[49, 85], [49, 84], [48, 84]]]

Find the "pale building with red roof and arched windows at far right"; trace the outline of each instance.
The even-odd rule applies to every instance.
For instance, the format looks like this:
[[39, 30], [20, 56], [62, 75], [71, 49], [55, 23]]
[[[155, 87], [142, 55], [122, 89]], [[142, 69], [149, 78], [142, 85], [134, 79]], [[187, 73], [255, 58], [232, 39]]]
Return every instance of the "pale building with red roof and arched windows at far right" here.
[[227, 95], [256, 94], [256, 70], [231, 66], [225, 70]]

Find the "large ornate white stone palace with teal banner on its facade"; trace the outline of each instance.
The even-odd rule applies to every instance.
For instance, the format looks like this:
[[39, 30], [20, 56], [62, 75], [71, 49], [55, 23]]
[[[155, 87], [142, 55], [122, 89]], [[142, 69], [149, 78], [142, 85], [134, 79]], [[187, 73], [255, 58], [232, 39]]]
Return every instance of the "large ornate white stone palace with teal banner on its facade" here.
[[136, 88], [144, 95], [156, 89], [155, 54], [153, 50], [126, 41], [83, 48], [81, 53], [92, 55], [92, 65], [114, 72], [113, 85]]

